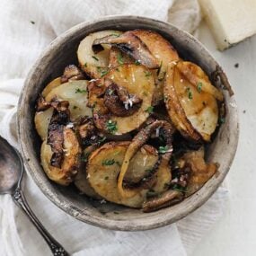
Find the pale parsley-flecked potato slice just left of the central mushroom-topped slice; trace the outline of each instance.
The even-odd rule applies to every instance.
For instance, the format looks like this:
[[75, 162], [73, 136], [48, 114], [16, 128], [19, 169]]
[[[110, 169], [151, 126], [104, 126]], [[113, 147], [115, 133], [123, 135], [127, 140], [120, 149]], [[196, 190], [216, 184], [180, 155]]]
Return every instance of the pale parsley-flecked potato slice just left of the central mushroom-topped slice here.
[[68, 101], [72, 120], [84, 116], [92, 117], [92, 110], [87, 107], [87, 84], [86, 80], [61, 84], [46, 96], [46, 101], [50, 102], [54, 98], [59, 101]]

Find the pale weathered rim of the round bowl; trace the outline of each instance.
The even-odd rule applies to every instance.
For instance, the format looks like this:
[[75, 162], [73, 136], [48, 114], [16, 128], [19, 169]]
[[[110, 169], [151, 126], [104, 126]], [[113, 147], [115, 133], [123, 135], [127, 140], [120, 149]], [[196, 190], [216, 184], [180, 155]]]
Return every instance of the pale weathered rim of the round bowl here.
[[[217, 190], [217, 188], [220, 186], [222, 181], [225, 179], [225, 175], [229, 172], [229, 169], [231, 167], [231, 164], [234, 160], [234, 155], [236, 153], [237, 145], [238, 145], [238, 138], [239, 138], [239, 122], [238, 122], [238, 111], [237, 111], [237, 105], [234, 100], [234, 96], [232, 96], [232, 104], [234, 104], [234, 116], [233, 120], [236, 124], [236, 128], [234, 129], [234, 141], [233, 141], [233, 148], [231, 151], [231, 154], [229, 154], [229, 158], [227, 159], [227, 168], [221, 173], [216, 179], [216, 183], [214, 183], [211, 187], [206, 190], [206, 193], [199, 196], [199, 199], [196, 200], [196, 202], [193, 202], [193, 204], [190, 205], [190, 207], [187, 207], [186, 209], [183, 208], [183, 210], [177, 214], [176, 216], [172, 215], [163, 215], [163, 216], [151, 216], [150, 219], [147, 220], [146, 224], [139, 223], [135, 220], [128, 220], [128, 221], [119, 221], [119, 220], [112, 220], [109, 218], [105, 218], [104, 216], [92, 216], [88, 214], [81, 215], [81, 212], [76, 210], [74, 207], [70, 207], [68, 204], [63, 203], [60, 199], [58, 199], [57, 195], [55, 195], [54, 192], [49, 190], [46, 186], [42, 186], [40, 180], [38, 179], [37, 175], [32, 171], [32, 166], [30, 161], [28, 161], [29, 155], [27, 153], [27, 146], [23, 137], [23, 129], [22, 129], [22, 115], [21, 110], [22, 106], [24, 104], [24, 92], [26, 92], [26, 89], [29, 87], [29, 81], [31, 80], [32, 75], [36, 71], [37, 67], [40, 65], [40, 61], [42, 57], [46, 56], [49, 51], [53, 48], [56, 48], [66, 36], [70, 36], [72, 34], [75, 34], [77, 31], [80, 31], [81, 29], [84, 29], [88, 26], [91, 26], [98, 22], [110, 22], [112, 20], [122, 20], [122, 19], [130, 19], [130, 20], [139, 20], [140, 22], [149, 22], [151, 24], [154, 23], [154, 25], [161, 28], [161, 30], [166, 29], [168, 30], [168, 27], [172, 27], [172, 29], [177, 30], [181, 32], [184, 36], [190, 38], [190, 40], [194, 40], [199, 44], [199, 47], [203, 49], [205, 52], [207, 52], [208, 56], [212, 57], [212, 55], [209, 53], [209, 51], [202, 45], [202, 43], [199, 42], [199, 40], [195, 39], [190, 33], [186, 31], [182, 31], [181, 29], [177, 28], [176, 26], [172, 25], [171, 23], [167, 22], [161, 22], [152, 18], [142, 17], [142, 16], [135, 16], [135, 15], [109, 15], [104, 16], [99, 19], [95, 19], [91, 22], [81, 22], [74, 27], [70, 28], [69, 30], [65, 31], [64, 33], [57, 36], [55, 40], [53, 40], [49, 46], [42, 51], [40, 54], [40, 57], [38, 57], [37, 61], [31, 66], [31, 70], [29, 74], [27, 75], [27, 78], [25, 80], [25, 83], [22, 88], [22, 93], [20, 95], [19, 103], [18, 103], [18, 113], [17, 113], [17, 124], [18, 124], [18, 138], [19, 138], [19, 144], [21, 146], [21, 153], [22, 153], [22, 159], [24, 161], [24, 165], [26, 167], [26, 170], [31, 175], [31, 178], [33, 181], [37, 184], [37, 186], [40, 188], [40, 190], [43, 192], [43, 194], [51, 200], [57, 207], [64, 210], [67, 214], [70, 216], [75, 217], [75, 219], [81, 220], [87, 224], [100, 226], [107, 229], [112, 230], [120, 230], [120, 231], [142, 231], [142, 230], [148, 230], [148, 229], [154, 229], [157, 227], [161, 227], [163, 225], [169, 225], [172, 224], [184, 216], [188, 216], [192, 211], [196, 210], [200, 206], [202, 206], [207, 199], [209, 199], [214, 192]], [[215, 61], [216, 66], [219, 66], [219, 64], [216, 62], [216, 59], [212, 57], [212, 59]], [[221, 68], [221, 66], [219, 66]], [[221, 68], [222, 70], [222, 68]], [[227, 82], [228, 83], [228, 82]], [[207, 181], [208, 182], [208, 181]], [[204, 185], [206, 186], [206, 184]], [[200, 190], [202, 190], [201, 188]], [[196, 193], [198, 194], [198, 192]], [[192, 198], [194, 195], [191, 195], [190, 198]], [[190, 200], [190, 198], [188, 198]], [[172, 207], [171, 207], [172, 208]]]

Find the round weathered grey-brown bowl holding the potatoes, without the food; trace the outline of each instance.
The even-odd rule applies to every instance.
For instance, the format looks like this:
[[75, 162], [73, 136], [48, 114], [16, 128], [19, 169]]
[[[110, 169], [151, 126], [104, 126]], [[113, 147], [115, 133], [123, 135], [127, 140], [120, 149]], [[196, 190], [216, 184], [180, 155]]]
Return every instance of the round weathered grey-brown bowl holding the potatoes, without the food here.
[[[218, 130], [214, 143], [207, 148], [207, 159], [220, 164], [218, 175], [207, 181], [205, 186], [180, 204], [163, 208], [153, 213], [121, 207], [115, 204], [100, 204], [83, 195], [79, 195], [73, 186], [64, 188], [49, 181], [40, 166], [40, 138], [34, 128], [35, 102], [43, 87], [60, 75], [68, 64], [77, 63], [76, 49], [80, 40], [93, 31], [146, 29], [157, 31], [178, 50], [181, 57], [201, 66], [207, 75], [216, 70], [220, 81], [216, 86], [228, 82], [216, 60], [210, 56], [198, 40], [190, 34], [173, 27], [171, 24], [135, 16], [110, 16], [96, 22], [81, 23], [54, 40], [31, 68], [18, 108], [19, 137], [22, 156], [31, 177], [40, 190], [57, 207], [67, 214], [92, 225], [116, 230], [146, 230], [171, 224], [187, 216], [204, 204], [224, 180], [234, 159], [238, 141], [238, 117], [234, 96], [224, 90], [226, 103], [225, 123]], [[117, 214], [117, 212], [119, 214]]]

